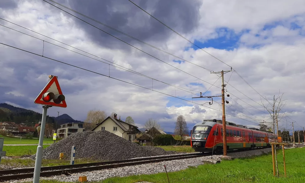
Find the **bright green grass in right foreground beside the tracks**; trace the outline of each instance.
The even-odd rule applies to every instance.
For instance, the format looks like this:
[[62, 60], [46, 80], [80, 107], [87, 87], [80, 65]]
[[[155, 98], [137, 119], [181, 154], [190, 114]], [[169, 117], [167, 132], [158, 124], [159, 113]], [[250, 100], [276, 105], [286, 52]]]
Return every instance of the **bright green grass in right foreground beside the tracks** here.
[[[206, 164], [199, 167], [189, 167], [186, 170], [168, 173], [170, 183], [301, 183], [305, 181], [305, 148], [286, 149], [287, 178], [283, 176], [282, 151], [278, 153], [280, 178], [273, 177], [272, 156], [270, 154], [233, 161], [222, 161], [220, 164]], [[152, 175], [135, 175], [124, 178], [109, 178], [99, 183], [135, 183], [148, 181], [167, 183], [165, 173]], [[58, 181], [41, 181], [41, 183], [59, 183]]]

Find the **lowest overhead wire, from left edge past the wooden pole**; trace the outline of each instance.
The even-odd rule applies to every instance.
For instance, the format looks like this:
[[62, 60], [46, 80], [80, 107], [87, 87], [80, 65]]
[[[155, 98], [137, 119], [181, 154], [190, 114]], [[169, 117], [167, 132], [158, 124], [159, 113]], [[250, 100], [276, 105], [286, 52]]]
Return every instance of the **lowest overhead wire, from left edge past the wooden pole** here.
[[[148, 90], [151, 90], [151, 91], [155, 91], [155, 92], [158, 92], [158, 93], [161, 93], [161, 94], [164, 94], [164, 95], [168, 95], [168, 96], [171, 96], [171, 97], [175, 97], [175, 96], [173, 96], [173, 95], [169, 95], [169, 94], [166, 94], [166, 93], [163, 93], [163, 92], [160, 92], [160, 91], [152, 90], [152, 89], [150, 89], [150, 88], [146, 88], [146, 87], [140, 86], [140, 85], [138, 85], [138, 84], [133, 84], [133, 83], [130, 83], [130, 82], [127, 82], [127, 81], [123, 81], [123, 80], [117, 79], [117, 78], [115, 78], [115, 77], [107, 76], [107, 75], [105, 75], [105, 74], [100, 74], [100, 73], [97, 73], [97, 72], [94, 72], [94, 71], [91, 71], [91, 70], [88, 70], [88, 69], [84, 69], [84, 68], [82, 68], [82, 67], [74, 66], [74, 65], [69, 64], [69, 63], [65, 63], [65, 62], [62, 62], [62, 61], [59, 61], [59, 60], [56, 60], [56, 59], [52, 59], [52, 58], [49, 58], [49, 57], [46, 57], [46, 56], [42, 56], [42, 55], [39, 55], [39, 54], [34, 53], [34, 52], [30, 52], [30, 51], [27, 51], [27, 50], [24, 50], [24, 49], [21, 49], [21, 48], [17, 48], [17, 47], [11, 46], [11, 45], [7, 45], [7, 44], [4, 44], [4, 43], [2, 43], [2, 42], [0, 42], [0, 44], [5, 45], [5, 46], [8, 46], [8, 47], [11, 47], [11, 48], [15, 48], [15, 49], [18, 49], [18, 50], [27, 52], [27, 53], [31, 53], [31, 54], [36, 55], [36, 56], [41, 56], [41, 57], [44, 57], [44, 58], [46, 58], [46, 59], [50, 59], [50, 60], [53, 60], [53, 61], [56, 61], [56, 62], [59, 62], [59, 63], [63, 63], [63, 64], [66, 64], [66, 65], [69, 65], [69, 66], [73, 66], [73, 67], [76, 67], [76, 68], [78, 68], [78, 69], [85, 70], [85, 71], [88, 71], [88, 72], [91, 72], [91, 73], [94, 73], [94, 74], [99, 74], [99, 75], [101, 75], [101, 76], [109, 77], [109, 78], [115, 79], [115, 80], [117, 80], [117, 81], [122, 81], [122, 82], [125, 82], [125, 83], [127, 83], [127, 84], [132, 84], [132, 85], [135, 85], [135, 86], [138, 86], [138, 87], [141, 87], [141, 88], [145, 88], [145, 89], [148, 89]], [[199, 103], [192, 102], [192, 101], [189, 101], [189, 100], [186, 100], [186, 99], [182, 99], [182, 98], [179, 98], [179, 97], [175, 97], [175, 98], [181, 99], [181, 100], [184, 100], [184, 101], [187, 101], [187, 102], [191, 102], [191, 103], [194, 103], [194, 104], [197, 104], [197, 105], [200, 105], [200, 106], [203, 106], [203, 105], [201, 105], [201, 104], [199, 104]], [[207, 106], [205, 106], [205, 107], [207, 107]], [[213, 108], [211, 108], [211, 107], [209, 107], [209, 108], [210, 108], [210, 109], [213, 109]], [[217, 109], [213, 109], [213, 110], [218, 111]], [[226, 114], [228, 114], [228, 113], [226, 113]], [[228, 115], [229, 115], [229, 116], [232, 116], [232, 117], [236, 117], [236, 116], [231, 115], [231, 114], [228, 114]], [[239, 118], [239, 117], [236, 117], [236, 118]], [[239, 118], [239, 119], [242, 119], [242, 118]], [[242, 119], [242, 120], [245, 120], [245, 119]], [[249, 121], [249, 120], [245, 120], [245, 121]], [[252, 123], [252, 121], [249, 121], [249, 122]]]

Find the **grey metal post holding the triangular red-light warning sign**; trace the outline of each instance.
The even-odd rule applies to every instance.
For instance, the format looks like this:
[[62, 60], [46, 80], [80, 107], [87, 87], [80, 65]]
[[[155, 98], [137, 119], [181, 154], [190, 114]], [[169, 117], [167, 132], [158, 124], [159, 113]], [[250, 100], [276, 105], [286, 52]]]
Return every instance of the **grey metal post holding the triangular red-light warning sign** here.
[[39, 142], [38, 142], [37, 152], [36, 152], [33, 183], [39, 183], [41, 160], [42, 160], [42, 145], [43, 145], [43, 137], [45, 135], [45, 119], [47, 117], [47, 109], [49, 108], [49, 106], [42, 106], [42, 108], [43, 108], [42, 120], [41, 120], [41, 127], [40, 127]]

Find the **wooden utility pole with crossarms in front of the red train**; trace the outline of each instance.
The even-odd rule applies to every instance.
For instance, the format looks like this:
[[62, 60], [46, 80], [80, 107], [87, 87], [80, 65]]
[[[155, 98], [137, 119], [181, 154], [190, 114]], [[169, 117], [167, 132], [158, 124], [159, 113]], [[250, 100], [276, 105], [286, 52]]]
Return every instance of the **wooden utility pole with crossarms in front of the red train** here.
[[[211, 74], [221, 74], [221, 95], [220, 96], [202, 96], [201, 92], [200, 92], [200, 96], [199, 97], [192, 97], [194, 98], [212, 98], [212, 97], [221, 97], [221, 105], [222, 105], [222, 137], [223, 137], [223, 150], [224, 150], [224, 156], [227, 156], [227, 131], [226, 131], [226, 113], [225, 113], [225, 106], [224, 106], [224, 87], [226, 86], [224, 84], [224, 74], [231, 72], [231, 70], [221, 70], [220, 72], [211, 72]], [[230, 96], [230, 95], [227, 95]], [[229, 103], [228, 101], [226, 101], [227, 103]], [[207, 102], [206, 102], [207, 103]], [[213, 98], [212, 98], [212, 104], [211, 102], [209, 102], [210, 105], [213, 104]], [[203, 104], [202, 104], [203, 105]]]

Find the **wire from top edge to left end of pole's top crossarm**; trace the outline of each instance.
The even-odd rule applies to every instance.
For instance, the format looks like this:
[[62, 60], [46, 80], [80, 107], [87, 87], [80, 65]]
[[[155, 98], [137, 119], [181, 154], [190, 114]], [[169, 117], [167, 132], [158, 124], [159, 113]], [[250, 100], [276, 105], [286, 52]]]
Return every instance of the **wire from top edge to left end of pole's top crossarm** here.
[[115, 31], [117, 31], [117, 32], [119, 32], [119, 33], [121, 33], [121, 34], [124, 34], [125, 36], [127, 36], [127, 37], [129, 37], [129, 38], [135, 39], [135, 40], [137, 40], [137, 41], [139, 41], [139, 42], [141, 42], [141, 43], [143, 43], [143, 44], [145, 44], [145, 45], [148, 45], [148, 46], [150, 46], [150, 47], [152, 47], [152, 48], [155, 48], [155, 49], [157, 49], [157, 50], [159, 50], [159, 51], [161, 51], [161, 52], [167, 53], [167, 54], [169, 54], [169, 55], [171, 55], [171, 56], [174, 56], [174, 57], [176, 57], [176, 58], [178, 58], [178, 59], [180, 59], [180, 60], [183, 60], [183, 61], [185, 61], [185, 62], [191, 63], [191, 64], [193, 64], [193, 65], [195, 65], [195, 66], [201, 67], [201, 68], [203, 68], [203, 69], [205, 69], [205, 70], [207, 70], [207, 71], [210, 71], [210, 72], [212, 71], [212, 70], [210, 70], [210, 69], [207, 69], [207, 68], [204, 68], [204, 67], [202, 67], [202, 66], [199, 66], [199, 65], [197, 65], [197, 64], [195, 64], [195, 63], [192, 63], [192, 62], [190, 62], [190, 61], [188, 61], [188, 60], [186, 60], [186, 59], [182, 59], [182, 58], [180, 58], [180, 57], [178, 57], [178, 56], [176, 56], [176, 55], [174, 55], [174, 54], [171, 54], [171, 53], [169, 53], [169, 52], [166, 52], [166, 51], [164, 51], [164, 50], [162, 50], [162, 49], [160, 49], [160, 48], [157, 48], [156, 46], [150, 45], [149, 43], [146, 43], [146, 42], [144, 42], [144, 41], [142, 41], [142, 40], [140, 40], [140, 39], [138, 39], [138, 38], [135, 38], [135, 37], [133, 37], [133, 36], [131, 36], [131, 35], [128, 35], [128, 34], [122, 32], [122, 31], [120, 31], [120, 30], [117, 30], [117, 29], [115, 29], [115, 28], [113, 28], [113, 27], [110, 27], [110, 26], [106, 25], [105, 23], [99, 22], [98, 20], [95, 20], [95, 19], [93, 19], [93, 18], [91, 18], [91, 17], [89, 17], [89, 16], [86, 16], [86, 15], [80, 13], [80, 12], [77, 12], [76, 10], [71, 9], [71, 8], [69, 8], [69, 7], [66, 7], [66, 6], [64, 6], [64, 5], [62, 5], [62, 4], [58, 3], [58, 2], [55, 2], [55, 1], [52, 1], [52, 0], [49, 0], [49, 1], [54, 2], [55, 4], [60, 5], [60, 6], [64, 7], [64, 8], [66, 8], [66, 9], [69, 9], [69, 10], [73, 11], [74, 13], [77, 13], [77, 14], [79, 14], [79, 15], [81, 15], [81, 16], [84, 16], [84, 17], [86, 17], [86, 18], [88, 18], [88, 19], [90, 19], [90, 20], [92, 20], [92, 21], [95, 21], [96, 23], [99, 23], [99, 24], [101, 24], [101, 25], [103, 25], [103, 26], [105, 26], [105, 27], [108, 27], [109, 29], [115, 30]]

